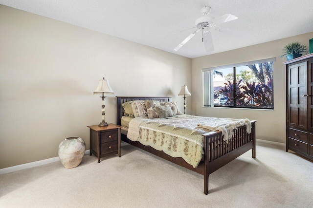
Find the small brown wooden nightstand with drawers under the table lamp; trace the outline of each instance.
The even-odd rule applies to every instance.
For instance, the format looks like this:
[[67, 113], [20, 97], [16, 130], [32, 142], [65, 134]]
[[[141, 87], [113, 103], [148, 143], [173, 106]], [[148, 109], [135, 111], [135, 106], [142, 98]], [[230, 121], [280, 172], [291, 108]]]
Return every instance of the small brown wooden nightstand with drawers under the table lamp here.
[[121, 156], [121, 128], [116, 124], [99, 127], [98, 125], [88, 126], [90, 128], [90, 155], [92, 153], [100, 158], [118, 153]]

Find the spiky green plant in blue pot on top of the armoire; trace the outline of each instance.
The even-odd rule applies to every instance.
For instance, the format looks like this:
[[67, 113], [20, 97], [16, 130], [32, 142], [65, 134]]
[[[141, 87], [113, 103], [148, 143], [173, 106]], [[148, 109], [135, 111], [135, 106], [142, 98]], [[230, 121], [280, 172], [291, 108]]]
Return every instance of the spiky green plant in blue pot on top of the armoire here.
[[308, 54], [308, 47], [296, 41], [285, 45], [283, 55], [280, 57], [286, 56], [287, 60], [291, 60], [293, 58], [301, 57], [302, 54]]

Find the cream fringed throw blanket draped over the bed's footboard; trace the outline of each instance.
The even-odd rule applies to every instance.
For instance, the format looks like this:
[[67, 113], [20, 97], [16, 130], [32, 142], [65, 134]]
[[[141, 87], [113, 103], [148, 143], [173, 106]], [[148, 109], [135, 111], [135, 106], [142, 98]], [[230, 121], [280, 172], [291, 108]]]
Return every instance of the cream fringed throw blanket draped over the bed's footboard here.
[[214, 120], [207, 120], [205, 123], [197, 124], [198, 127], [208, 129], [211, 131], [221, 131], [224, 136], [224, 141], [231, 139], [233, 130], [240, 126], [246, 126], [246, 132], [251, 133], [251, 122], [249, 119], [232, 119], [232, 118], [219, 118]]

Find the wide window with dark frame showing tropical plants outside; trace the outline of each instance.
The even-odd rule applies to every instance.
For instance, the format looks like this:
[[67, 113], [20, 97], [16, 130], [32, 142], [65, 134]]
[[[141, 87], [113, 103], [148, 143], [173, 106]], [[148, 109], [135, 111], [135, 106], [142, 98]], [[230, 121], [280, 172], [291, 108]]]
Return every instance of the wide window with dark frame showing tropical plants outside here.
[[203, 69], [203, 106], [273, 109], [273, 61]]

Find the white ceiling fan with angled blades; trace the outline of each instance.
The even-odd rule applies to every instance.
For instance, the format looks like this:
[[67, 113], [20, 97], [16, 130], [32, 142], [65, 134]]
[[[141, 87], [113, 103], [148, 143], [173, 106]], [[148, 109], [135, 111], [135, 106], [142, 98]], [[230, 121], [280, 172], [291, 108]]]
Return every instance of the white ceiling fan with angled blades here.
[[191, 33], [181, 43], [179, 43], [179, 45], [174, 49], [174, 51], [178, 51], [179, 48], [181, 48], [186, 42], [188, 42], [201, 30], [202, 30], [202, 42], [204, 43], [205, 51], [206, 52], [214, 51], [212, 35], [211, 35], [210, 30], [215, 29], [219, 31], [221, 28], [221, 26], [219, 26], [220, 24], [227, 22], [227, 21], [234, 20], [234, 19], [238, 19], [238, 18], [230, 14], [225, 14], [218, 18], [213, 18], [213, 17], [208, 16], [210, 11], [211, 11], [211, 7], [209, 6], [205, 6], [201, 9], [201, 13], [204, 15], [204, 17], [196, 19], [194, 28], [197, 28], [197, 30]]

